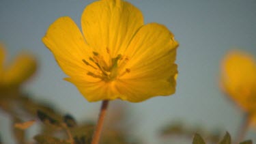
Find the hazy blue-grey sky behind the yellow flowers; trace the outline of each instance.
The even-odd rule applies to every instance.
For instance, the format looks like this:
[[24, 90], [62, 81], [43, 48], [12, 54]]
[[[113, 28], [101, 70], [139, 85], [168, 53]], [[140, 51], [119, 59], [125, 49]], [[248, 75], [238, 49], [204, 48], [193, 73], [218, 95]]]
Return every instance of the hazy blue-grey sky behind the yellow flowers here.
[[[39, 63], [38, 72], [24, 85], [25, 91], [34, 100], [48, 102], [63, 113], [72, 114], [78, 122], [96, 121], [100, 102], [87, 102], [74, 85], [63, 81], [66, 75], [41, 39], [48, 26], [61, 16], [70, 16], [81, 27], [83, 9], [91, 2], [0, 0], [0, 41], [7, 48], [8, 59], [27, 51], [35, 55]], [[235, 138], [243, 113], [219, 88], [220, 63], [233, 48], [256, 57], [256, 1], [129, 2], [143, 12], [145, 23], [166, 25], [180, 42], [177, 89], [173, 96], [140, 103], [112, 101], [109, 113], [124, 106], [130, 132], [147, 144], [178, 143], [175, 137], [160, 136], [162, 128], [175, 121], [188, 127], [220, 130], [221, 134], [229, 131]], [[13, 143], [8, 115], [1, 111], [0, 121], [3, 143]], [[32, 139], [35, 133], [28, 131]], [[245, 139], [256, 142], [256, 128], [250, 128]], [[186, 143], [192, 143], [192, 137]]]

